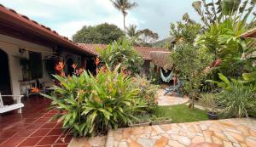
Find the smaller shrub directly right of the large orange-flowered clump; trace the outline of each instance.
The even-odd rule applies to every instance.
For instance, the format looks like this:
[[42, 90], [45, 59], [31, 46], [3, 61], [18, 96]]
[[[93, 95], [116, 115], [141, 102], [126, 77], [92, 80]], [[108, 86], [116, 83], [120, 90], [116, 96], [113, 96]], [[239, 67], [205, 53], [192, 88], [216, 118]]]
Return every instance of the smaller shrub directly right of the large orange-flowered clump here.
[[159, 86], [151, 84], [146, 77], [132, 77], [130, 88], [139, 88], [137, 96], [148, 105], [146, 110], [150, 112], [157, 107], [157, 90]]

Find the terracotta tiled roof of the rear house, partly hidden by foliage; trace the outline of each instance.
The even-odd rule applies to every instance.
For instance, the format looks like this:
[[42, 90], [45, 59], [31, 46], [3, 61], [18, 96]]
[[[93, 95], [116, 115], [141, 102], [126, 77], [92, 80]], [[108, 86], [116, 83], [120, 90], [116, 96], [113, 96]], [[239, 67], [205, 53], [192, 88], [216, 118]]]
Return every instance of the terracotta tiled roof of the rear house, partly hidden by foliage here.
[[[89, 44], [89, 43], [79, 43], [79, 46], [82, 48], [86, 48], [93, 52], [96, 55], [99, 53], [96, 51], [96, 48], [106, 48], [106, 44]], [[139, 54], [143, 55], [144, 60], [151, 60], [150, 52], [160, 51], [160, 52], [168, 52], [166, 48], [151, 48], [151, 47], [134, 47]]]

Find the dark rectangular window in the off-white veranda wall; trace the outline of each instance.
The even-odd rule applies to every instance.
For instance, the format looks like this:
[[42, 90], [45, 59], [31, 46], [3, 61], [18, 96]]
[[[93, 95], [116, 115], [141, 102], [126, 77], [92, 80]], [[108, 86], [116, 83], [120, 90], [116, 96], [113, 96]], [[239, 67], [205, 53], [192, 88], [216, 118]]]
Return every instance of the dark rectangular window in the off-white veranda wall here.
[[36, 52], [29, 52], [30, 70], [32, 79], [43, 77], [43, 62], [42, 54]]

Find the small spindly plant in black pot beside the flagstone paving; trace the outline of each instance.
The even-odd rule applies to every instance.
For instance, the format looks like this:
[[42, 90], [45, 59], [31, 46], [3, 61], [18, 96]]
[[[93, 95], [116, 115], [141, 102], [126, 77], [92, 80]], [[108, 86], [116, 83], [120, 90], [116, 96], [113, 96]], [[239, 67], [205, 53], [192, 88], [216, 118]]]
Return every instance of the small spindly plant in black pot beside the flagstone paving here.
[[207, 110], [207, 116], [210, 120], [218, 120], [218, 109], [214, 95], [212, 93], [201, 94], [201, 105]]

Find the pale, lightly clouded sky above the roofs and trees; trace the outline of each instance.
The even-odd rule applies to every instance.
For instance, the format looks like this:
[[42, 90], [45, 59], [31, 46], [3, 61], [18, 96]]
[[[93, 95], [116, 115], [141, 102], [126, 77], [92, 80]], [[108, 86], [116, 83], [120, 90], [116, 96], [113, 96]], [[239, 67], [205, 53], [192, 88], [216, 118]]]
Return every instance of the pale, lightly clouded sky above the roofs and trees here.
[[[185, 13], [199, 20], [191, 6], [195, 0], [130, 1], [136, 2], [137, 8], [128, 12], [126, 26], [148, 28], [158, 33], [160, 39], [169, 37], [170, 23], [182, 20]], [[110, 0], [0, 0], [0, 3], [70, 39], [84, 25], [108, 22], [123, 29], [123, 16]]]

